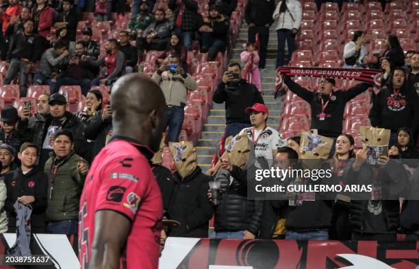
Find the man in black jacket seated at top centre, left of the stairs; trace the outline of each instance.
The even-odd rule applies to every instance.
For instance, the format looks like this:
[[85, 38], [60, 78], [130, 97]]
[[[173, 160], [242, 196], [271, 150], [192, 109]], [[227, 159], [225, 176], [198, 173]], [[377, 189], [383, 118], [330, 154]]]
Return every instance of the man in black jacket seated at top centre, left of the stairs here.
[[223, 53], [227, 44], [229, 21], [218, 12], [215, 5], [210, 7], [210, 16], [203, 20], [199, 28], [201, 33], [201, 52], [208, 52], [208, 60], [214, 61], [218, 52]]

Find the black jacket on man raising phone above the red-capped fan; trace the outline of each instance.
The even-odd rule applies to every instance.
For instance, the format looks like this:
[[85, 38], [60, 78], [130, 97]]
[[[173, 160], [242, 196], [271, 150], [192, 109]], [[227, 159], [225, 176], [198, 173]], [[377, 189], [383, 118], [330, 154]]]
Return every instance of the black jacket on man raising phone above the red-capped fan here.
[[256, 86], [242, 79], [238, 84], [218, 84], [212, 100], [225, 103], [225, 118], [229, 123], [250, 123], [249, 115], [244, 112], [246, 107], [255, 103], [263, 103], [264, 99]]

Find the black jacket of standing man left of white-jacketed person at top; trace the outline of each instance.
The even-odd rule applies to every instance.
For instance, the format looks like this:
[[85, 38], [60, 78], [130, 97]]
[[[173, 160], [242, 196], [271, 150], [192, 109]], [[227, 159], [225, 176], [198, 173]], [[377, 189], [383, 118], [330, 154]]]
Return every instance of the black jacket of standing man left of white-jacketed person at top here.
[[251, 23], [256, 26], [272, 25], [275, 8], [275, 1], [272, 0], [249, 0], [246, 4], [244, 19], [248, 25]]

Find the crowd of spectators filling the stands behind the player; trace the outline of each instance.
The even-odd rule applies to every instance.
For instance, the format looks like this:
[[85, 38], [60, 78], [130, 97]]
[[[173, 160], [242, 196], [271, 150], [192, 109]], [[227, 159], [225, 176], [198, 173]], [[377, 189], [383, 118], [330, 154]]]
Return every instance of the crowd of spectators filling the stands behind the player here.
[[[335, 2], [342, 8], [343, 1]], [[382, 2], [385, 7], [386, 1]], [[2, 2], [3, 85], [18, 85], [13, 101], [20, 97], [22, 102], [16, 108], [13, 101], [5, 101], [1, 110], [0, 231], [16, 231], [16, 203], [21, 203], [31, 206], [33, 233], [77, 235], [86, 175], [94, 157], [112, 138], [110, 88], [127, 73], [144, 72], [162, 88], [166, 99], [168, 131], [152, 167], [165, 216], [180, 223], [166, 231], [168, 236], [206, 238], [214, 216], [216, 238], [392, 241], [397, 234], [405, 234], [405, 240], [419, 240], [419, 203], [403, 200], [402, 192], [393, 193], [391, 201], [374, 196], [365, 201], [299, 205], [247, 197], [249, 153], [257, 159], [281, 161], [284, 167], [301, 165], [301, 137], [285, 139], [267, 125], [269, 111], [261, 93], [269, 29], [276, 22], [276, 66], [292, 63], [301, 31], [300, 1], [247, 1], [244, 17], [249, 40], [241, 54], [243, 63], [229, 64], [214, 78], [212, 96], [215, 103], [225, 103], [225, 138], [236, 142], [225, 143], [219, 162], [206, 173], [197, 164], [196, 153], [179, 153], [185, 143], [193, 148], [191, 142], [179, 142], [179, 135], [188, 91], [199, 88], [199, 74], [188, 55], [196, 50], [196, 41], [210, 62], [231, 51], [229, 27], [237, 1], [206, 4], [203, 16], [194, 0], [170, 0], [166, 8], [153, 0]], [[316, 6], [320, 10], [322, 1], [316, 1]], [[86, 26], [81, 20], [84, 14], [94, 14], [95, 23], [110, 26], [111, 21], [118, 29], [112, 34], [107, 29], [101, 34], [107, 38], [98, 38], [95, 31], [101, 29]], [[345, 42], [340, 66], [381, 69], [378, 91], [366, 83], [340, 90], [342, 84], [333, 78], [319, 79], [317, 91], [291, 77], [284, 76], [283, 82], [309, 104], [309, 129], [333, 139], [330, 153], [322, 157], [336, 164], [333, 175], [342, 184], [348, 177], [358, 183], [398, 181], [394, 169], [418, 181], [419, 53], [404, 51], [398, 37], [390, 34], [374, 61], [367, 38], [366, 31], [354, 31]], [[143, 64], [150, 51], [158, 51], [151, 73]], [[249, 73], [251, 79], [246, 80]], [[366, 163], [366, 146], [355, 149], [354, 137], [344, 132], [346, 104], [360, 94], [370, 96], [370, 125], [391, 132], [388, 155], [381, 155], [375, 166]], [[80, 98], [73, 101], [73, 95]], [[31, 103], [34, 97], [36, 104]], [[175, 164], [168, 168], [162, 166], [167, 145]], [[220, 181], [215, 205], [210, 181]], [[118, 201], [117, 194], [110, 199]]]

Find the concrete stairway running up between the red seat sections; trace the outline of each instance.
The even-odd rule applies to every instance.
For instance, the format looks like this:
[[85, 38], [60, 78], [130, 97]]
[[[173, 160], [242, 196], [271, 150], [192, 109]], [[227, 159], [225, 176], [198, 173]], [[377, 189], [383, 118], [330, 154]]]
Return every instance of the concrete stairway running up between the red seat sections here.
[[[231, 62], [240, 62], [240, 53], [243, 51], [242, 44], [247, 41], [247, 25], [242, 24], [239, 38], [234, 48]], [[268, 57], [266, 59], [266, 71], [260, 73], [262, 79], [262, 96], [269, 109], [268, 125], [274, 129], [279, 128], [279, 115], [281, 114], [282, 103], [280, 99], [273, 98], [275, 87], [275, 61], [277, 51], [277, 33], [275, 26], [270, 27], [268, 43]], [[225, 129], [225, 105], [214, 103], [214, 107], [208, 115], [208, 123], [202, 130], [202, 138], [196, 143], [198, 153], [198, 164], [205, 171], [210, 168], [214, 153], [218, 153], [218, 144], [223, 137]]]

